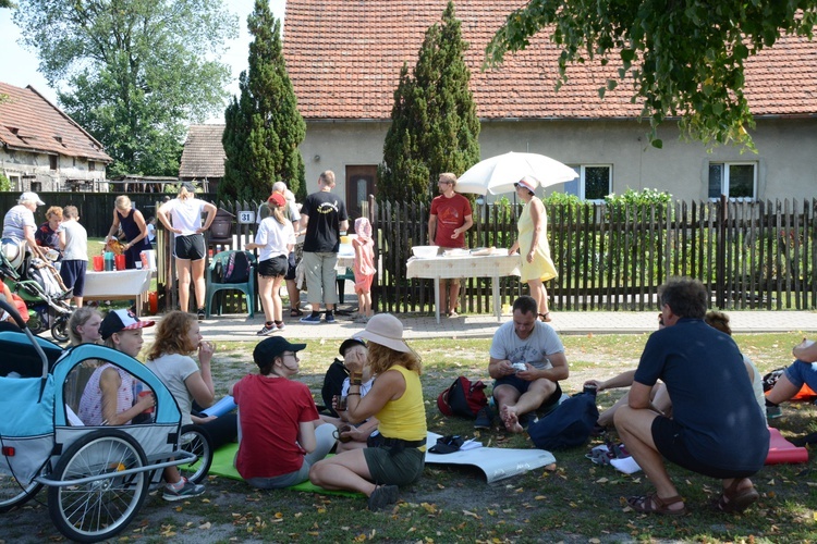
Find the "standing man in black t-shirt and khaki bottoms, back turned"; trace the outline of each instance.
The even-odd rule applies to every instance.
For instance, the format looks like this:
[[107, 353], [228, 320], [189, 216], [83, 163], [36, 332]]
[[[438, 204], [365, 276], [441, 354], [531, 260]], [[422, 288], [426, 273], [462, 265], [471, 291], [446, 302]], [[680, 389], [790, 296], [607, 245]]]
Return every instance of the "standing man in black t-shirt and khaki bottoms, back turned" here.
[[304, 232], [304, 271], [306, 298], [312, 313], [301, 318], [302, 323], [320, 323], [320, 305], [326, 305], [326, 322], [334, 323], [334, 305], [340, 233], [349, 228], [346, 205], [332, 195], [334, 172], [327, 170], [318, 177], [317, 193], [313, 193], [301, 207], [301, 231]]

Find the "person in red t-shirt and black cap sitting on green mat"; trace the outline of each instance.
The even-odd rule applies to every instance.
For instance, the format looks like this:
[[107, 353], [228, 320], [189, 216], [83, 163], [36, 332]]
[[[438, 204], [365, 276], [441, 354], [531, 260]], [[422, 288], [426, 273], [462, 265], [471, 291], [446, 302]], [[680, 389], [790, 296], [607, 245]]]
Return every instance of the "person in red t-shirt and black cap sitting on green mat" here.
[[291, 380], [298, 371], [297, 353], [305, 347], [281, 336], [261, 341], [253, 350], [259, 373], [230, 387], [239, 405], [235, 468], [254, 487], [305, 482], [313, 463], [334, 445], [334, 425], [320, 421], [309, 387]]

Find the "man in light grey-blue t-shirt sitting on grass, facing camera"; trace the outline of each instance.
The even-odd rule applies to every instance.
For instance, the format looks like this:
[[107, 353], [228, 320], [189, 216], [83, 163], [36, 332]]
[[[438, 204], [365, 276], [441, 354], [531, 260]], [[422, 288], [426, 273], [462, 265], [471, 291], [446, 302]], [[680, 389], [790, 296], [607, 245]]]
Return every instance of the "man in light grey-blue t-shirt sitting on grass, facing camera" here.
[[528, 412], [559, 401], [559, 381], [569, 373], [559, 335], [536, 316], [533, 297], [517, 298], [513, 321], [497, 330], [490, 348], [488, 372], [496, 380], [493, 399], [505, 429], [513, 433], [523, 431], [520, 419]]

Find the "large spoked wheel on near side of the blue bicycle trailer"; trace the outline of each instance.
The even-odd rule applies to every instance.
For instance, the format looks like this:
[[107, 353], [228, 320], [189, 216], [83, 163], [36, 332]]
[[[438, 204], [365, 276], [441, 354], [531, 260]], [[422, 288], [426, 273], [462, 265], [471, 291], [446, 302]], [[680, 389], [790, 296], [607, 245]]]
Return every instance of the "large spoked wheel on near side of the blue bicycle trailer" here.
[[[122, 531], [148, 493], [149, 469], [142, 446], [127, 433], [102, 430], [83, 436], [62, 454], [52, 473], [66, 482], [109, 474], [88, 483], [48, 489], [48, 511], [65, 537], [98, 542]], [[127, 469], [141, 472], [117, 475]]]

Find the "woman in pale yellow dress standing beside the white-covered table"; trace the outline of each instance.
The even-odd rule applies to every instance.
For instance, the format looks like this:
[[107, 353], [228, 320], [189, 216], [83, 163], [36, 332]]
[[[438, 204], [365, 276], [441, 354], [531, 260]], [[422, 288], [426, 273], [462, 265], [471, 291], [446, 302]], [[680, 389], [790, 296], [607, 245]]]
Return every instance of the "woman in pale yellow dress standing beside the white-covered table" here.
[[508, 255], [517, 249], [522, 254], [522, 276], [531, 288], [531, 296], [536, 300], [539, 319], [550, 321], [548, 311], [548, 289], [544, 282], [557, 277], [559, 274], [550, 258], [550, 246], [548, 245], [548, 214], [545, 205], [541, 203], [534, 190], [538, 182], [525, 176], [514, 184], [516, 196], [525, 202], [522, 214], [516, 223], [519, 238], [508, 250]]

